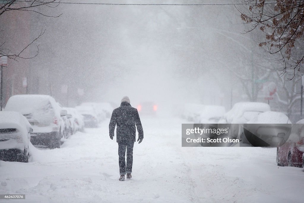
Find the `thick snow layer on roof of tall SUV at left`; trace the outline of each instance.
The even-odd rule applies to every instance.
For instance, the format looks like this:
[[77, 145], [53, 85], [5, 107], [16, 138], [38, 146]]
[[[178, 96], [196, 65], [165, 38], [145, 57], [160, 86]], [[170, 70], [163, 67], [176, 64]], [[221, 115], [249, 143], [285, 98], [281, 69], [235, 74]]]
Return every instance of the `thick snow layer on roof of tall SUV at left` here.
[[46, 106], [51, 98], [49, 95], [14, 95], [9, 98], [5, 110], [32, 113], [34, 109]]

